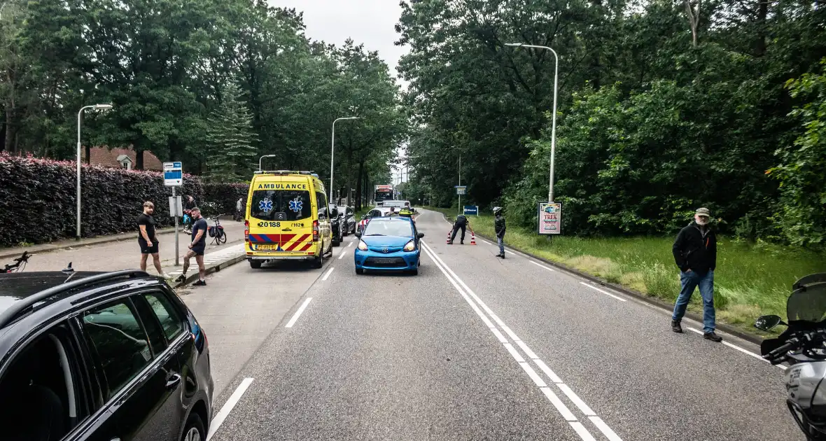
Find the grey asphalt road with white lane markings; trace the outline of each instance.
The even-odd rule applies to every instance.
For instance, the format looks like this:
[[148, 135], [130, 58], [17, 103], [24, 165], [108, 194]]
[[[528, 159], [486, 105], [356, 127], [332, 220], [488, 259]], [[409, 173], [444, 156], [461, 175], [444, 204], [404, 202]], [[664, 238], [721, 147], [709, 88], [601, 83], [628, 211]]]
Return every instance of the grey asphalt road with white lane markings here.
[[437, 213], [417, 225], [418, 276], [357, 276], [350, 236], [321, 270], [240, 263], [184, 293], [219, 385], [211, 439], [803, 439], [754, 345], [446, 245]]

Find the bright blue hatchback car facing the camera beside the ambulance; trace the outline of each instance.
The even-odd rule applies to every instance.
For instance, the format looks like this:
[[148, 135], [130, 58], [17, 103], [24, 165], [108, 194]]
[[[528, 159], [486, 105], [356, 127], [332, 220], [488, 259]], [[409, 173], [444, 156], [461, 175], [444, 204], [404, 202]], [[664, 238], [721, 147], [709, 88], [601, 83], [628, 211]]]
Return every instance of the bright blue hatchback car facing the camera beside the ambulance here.
[[419, 239], [425, 234], [415, 230], [411, 218], [374, 217], [356, 237], [356, 274], [364, 270], [419, 273]]

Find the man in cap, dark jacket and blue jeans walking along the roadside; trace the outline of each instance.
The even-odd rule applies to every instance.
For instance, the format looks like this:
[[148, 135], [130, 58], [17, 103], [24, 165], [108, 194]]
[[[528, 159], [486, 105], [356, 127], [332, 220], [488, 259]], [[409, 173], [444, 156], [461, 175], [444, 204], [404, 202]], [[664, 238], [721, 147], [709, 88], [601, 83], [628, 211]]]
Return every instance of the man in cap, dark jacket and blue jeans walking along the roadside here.
[[709, 226], [710, 211], [698, 208], [694, 221], [680, 230], [672, 252], [677, 268], [680, 268], [682, 289], [672, 314], [672, 330], [682, 332], [680, 320], [686, 315], [695, 287], [700, 287], [703, 297], [703, 336], [714, 342], [723, 339], [714, 333], [714, 268], [717, 266], [717, 236]]

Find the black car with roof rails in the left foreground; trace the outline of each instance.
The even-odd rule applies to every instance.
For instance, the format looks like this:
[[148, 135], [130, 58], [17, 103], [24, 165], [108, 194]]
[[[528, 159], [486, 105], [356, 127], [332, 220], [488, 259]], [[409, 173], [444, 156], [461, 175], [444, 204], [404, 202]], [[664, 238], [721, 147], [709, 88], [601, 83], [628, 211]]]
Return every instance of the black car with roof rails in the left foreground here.
[[207, 336], [163, 280], [0, 274], [4, 440], [205, 440]]

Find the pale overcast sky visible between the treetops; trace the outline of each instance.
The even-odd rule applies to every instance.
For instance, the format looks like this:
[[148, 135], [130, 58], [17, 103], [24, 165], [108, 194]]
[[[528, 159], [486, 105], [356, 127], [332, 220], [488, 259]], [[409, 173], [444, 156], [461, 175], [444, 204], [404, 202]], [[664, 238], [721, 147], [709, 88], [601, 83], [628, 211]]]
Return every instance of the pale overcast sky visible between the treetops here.
[[[304, 12], [306, 36], [337, 46], [352, 38], [363, 43], [390, 66], [396, 78], [396, 65], [406, 47], [393, 45], [398, 40], [394, 26], [401, 16], [398, 0], [268, 0], [274, 7], [292, 7]], [[396, 80], [401, 84], [401, 81]]]

